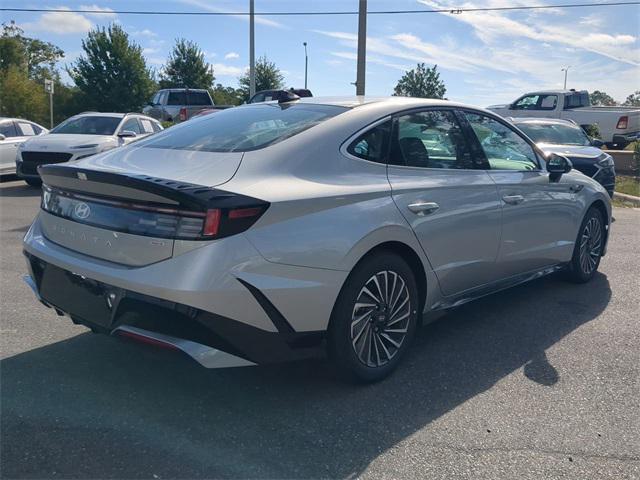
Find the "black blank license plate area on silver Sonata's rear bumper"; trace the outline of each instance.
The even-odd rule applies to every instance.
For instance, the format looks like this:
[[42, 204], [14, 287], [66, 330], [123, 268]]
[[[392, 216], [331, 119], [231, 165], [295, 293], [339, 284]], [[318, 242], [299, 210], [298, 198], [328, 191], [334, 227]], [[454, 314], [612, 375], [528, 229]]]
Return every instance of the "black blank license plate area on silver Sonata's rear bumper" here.
[[40, 281], [40, 296], [45, 302], [72, 317], [109, 328], [122, 291], [45, 264]]

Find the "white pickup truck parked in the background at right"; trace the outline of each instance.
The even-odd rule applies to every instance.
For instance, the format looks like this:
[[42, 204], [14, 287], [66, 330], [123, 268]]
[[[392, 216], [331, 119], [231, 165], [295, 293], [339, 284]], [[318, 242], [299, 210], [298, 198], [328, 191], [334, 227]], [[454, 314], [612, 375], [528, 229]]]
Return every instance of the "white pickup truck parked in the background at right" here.
[[509, 105], [487, 108], [503, 117], [561, 118], [583, 128], [597, 125], [609, 148], [622, 149], [640, 137], [640, 108], [592, 107], [586, 90], [531, 92]]

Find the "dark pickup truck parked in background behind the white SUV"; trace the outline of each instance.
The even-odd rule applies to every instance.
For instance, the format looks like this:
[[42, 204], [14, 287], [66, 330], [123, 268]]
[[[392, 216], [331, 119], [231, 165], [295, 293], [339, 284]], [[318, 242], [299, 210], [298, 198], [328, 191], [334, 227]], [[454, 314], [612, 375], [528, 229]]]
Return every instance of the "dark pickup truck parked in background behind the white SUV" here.
[[222, 109], [214, 106], [207, 90], [167, 88], [158, 90], [142, 113], [161, 122], [184, 122], [204, 109]]

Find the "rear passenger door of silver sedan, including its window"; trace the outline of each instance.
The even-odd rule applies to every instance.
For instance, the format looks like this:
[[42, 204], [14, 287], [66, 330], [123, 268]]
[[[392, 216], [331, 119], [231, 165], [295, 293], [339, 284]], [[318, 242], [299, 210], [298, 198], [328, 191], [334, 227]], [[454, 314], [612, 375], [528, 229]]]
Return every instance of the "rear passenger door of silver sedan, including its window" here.
[[413, 228], [444, 295], [496, 278], [500, 203], [452, 109], [396, 116], [388, 166], [393, 200]]

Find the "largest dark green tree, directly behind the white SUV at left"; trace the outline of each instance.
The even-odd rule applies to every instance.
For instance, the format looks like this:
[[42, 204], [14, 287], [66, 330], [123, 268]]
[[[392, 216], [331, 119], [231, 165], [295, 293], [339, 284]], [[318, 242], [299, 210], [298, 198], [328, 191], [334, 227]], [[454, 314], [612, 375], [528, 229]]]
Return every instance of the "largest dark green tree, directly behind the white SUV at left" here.
[[84, 55], [67, 72], [83, 94], [85, 108], [140, 110], [155, 88], [142, 48], [119, 25], [90, 31], [82, 48]]

